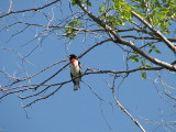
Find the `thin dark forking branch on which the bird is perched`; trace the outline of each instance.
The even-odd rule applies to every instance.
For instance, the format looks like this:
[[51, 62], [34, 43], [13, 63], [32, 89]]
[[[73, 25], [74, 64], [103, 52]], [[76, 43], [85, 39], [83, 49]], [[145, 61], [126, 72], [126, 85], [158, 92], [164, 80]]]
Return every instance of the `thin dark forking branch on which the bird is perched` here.
[[[67, 64], [65, 66], [67, 66]], [[61, 68], [61, 69], [63, 69], [63, 68]], [[61, 69], [58, 72], [61, 72]], [[162, 67], [142, 67], [142, 68], [135, 68], [135, 69], [130, 69], [130, 70], [119, 70], [119, 72], [116, 72], [116, 70], [91, 70], [91, 69], [88, 69], [88, 70], [91, 70], [91, 72], [84, 73], [81, 75], [81, 77], [87, 76], [87, 75], [91, 75], [91, 74], [92, 75], [95, 75], [95, 74], [113, 74], [116, 76], [120, 75], [120, 74], [128, 74], [129, 75], [131, 73], [141, 72], [141, 70], [161, 70], [161, 69], [163, 69], [163, 68]], [[57, 73], [55, 73], [53, 76], [56, 76]], [[80, 77], [80, 76], [78, 76], [78, 77]], [[78, 77], [76, 77], [76, 78], [78, 78]], [[4, 92], [6, 95], [1, 96], [0, 99], [2, 99], [3, 97], [6, 97], [8, 95], [11, 95], [11, 94], [23, 92], [23, 91], [26, 91], [26, 90], [36, 89], [36, 88], [38, 88], [41, 86], [46, 86], [46, 88], [44, 88], [43, 90], [41, 90], [41, 91], [38, 91], [36, 94], [33, 94], [33, 95], [28, 96], [28, 97], [20, 97], [21, 99], [28, 99], [28, 98], [31, 98], [31, 97], [34, 97], [34, 96], [38, 96], [40, 94], [42, 94], [45, 90], [47, 90], [50, 87], [55, 87], [55, 86], [61, 86], [61, 85], [63, 86], [65, 84], [70, 82], [74, 79], [75, 78], [66, 80], [66, 81], [63, 81], [63, 82], [53, 84], [53, 85], [47, 85], [47, 84], [45, 84], [46, 81], [45, 82], [43, 81], [40, 85], [31, 85], [30, 84], [30, 85], [12, 87], [12, 88], [9, 88], [9, 89], [4, 89], [4, 87], [2, 86], [2, 87], [0, 87], [0, 91]], [[19, 88], [24, 88], [24, 89], [19, 89]]]

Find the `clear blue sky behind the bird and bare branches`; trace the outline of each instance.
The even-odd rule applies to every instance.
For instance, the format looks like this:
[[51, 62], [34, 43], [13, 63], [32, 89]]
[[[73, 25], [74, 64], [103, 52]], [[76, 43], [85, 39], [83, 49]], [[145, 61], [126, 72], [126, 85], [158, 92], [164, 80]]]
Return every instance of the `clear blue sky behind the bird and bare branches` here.
[[[45, 4], [45, 2], [41, 0], [13, 0], [12, 9], [23, 10], [43, 4]], [[64, 2], [62, 6], [63, 11], [69, 8]], [[0, 9], [8, 11], [9, 1], [1, 0]], [[62, 16], [56, 13], [58, 9], [53, 10], [56, 18]], [[52, 15], [50, 8], [42, 11]], [[64, 14], [65, 13], [67, 14], [67, 12], [64, 12]], [[28, 18], [26, 22], [47, 24], [43, 15], [34, 15], [32, 19], [29, 19], [31, 14], [24, 13], [20, 15]], [[18, 18], [20, 18], [20, 15], [16, 14]], [[22, 21], [25, 21], [25, 18], [23, 18]], [[14, 20], [15, 18], [10, 19], [8, 16], [0, 19], [0, 30], [6, 23], [13, 23]], [[0, 47], [13, 48], [23, 56], [28, 55], [40, 44], [40, 38], [35, 41], [31, 40], [33, 40], [35, 35], [38, 35], [42, 28], [29, 28], [24, 32], [10, 38], [12, 34], [15, 34], [23, 28], [25, 26], [16, 24], [13, 28], [1, 31]], [[88, 36], [87, 38], [78, 37], [72, 43], [67, 43], [67, 40], [59, 40], [53, 34], [43, 33], [42, 36], [44, 36], [42, 37], [44, 38], [42, 44], [28, 57], [34, 65], [22, 62], [19, 55], [12, 51], [0, 50], [0, 69], [15, 76], [23, 76], [24, 74], [26, 76], [32, 75], [53, 63], [66, 59], [66, 56], [69, 54], [80, 55], [99, 42], [98, 37], [91, 38], [92, 36]], [[163, 61], [172, 62], [174, 56], [166, 47], [161, 45], [160, 48], [163, 53], [166, 53], [160, 55], [160, 57]], [[106, 43], [80, 58], [82, 70], [86, 70], [87, 67], [123, 70], [125, 69], [123, 55], [123, 51], [121, 51], [119, 46], [112, 43]], [[65, 64], [66, 63], [62, 63], [52, 67], [50, 70], [32, 79], [31, 82], [37, 84], [45, 80]], [[133, 67], [135, 67], [135, 64], [132, 64], [131, 68]], [[167, 76], [168, 74], [163, 73], [163, 75]], [[164, 121], [165, 119], [168, 121], [176, 119], [174, 116], [169, 117], [169, 114], [174, 112], [173, 109], [170, 109], [172, 107], [157, 94], [157, 89], [161, 90], [162, 87], [160, 85], [156, 85], [156, 87], [153, 85], [152, 80], [155, 78], [155, 73], [148, 73], [148, 79], [141, 79], [140, 73], [132, 74], [124, 80], [120, 88], [117, 87], [116, 95], [120, 102], [148, 132], [161, 129], [157, 128], [157, 124], [150, 124], [151, 120], [162, 122], [162, 120]], [[69, 79], [69, 67], [67, 67], [63, 73], [55, 76], [50, 84], [62, 82]], [[108, 103], [114, 103], [111, 90], [107, 85], [112, 84], [112, 77], [107, 75], [88, 75], [85, 76], [82, 80], [91, 86], [92, 90], [106, 100], [106, 102], [100, 101], [82, 82], [80, 84], [81, 89], [79, 91], [74, 91], [73, 84], [69, 82], [51, 98], [38, 101], [26, 109], [23, 109], [21, 106], [29, 103], [35, 98], [21, 100], [15, 95], [12, 95], [0, 101], [0, 132], [140, 132], [140, 129], [124, 112], [116, 105]], [[172, 76], [168, 76], [167, 80], [174, 84]], [[8, 79], [4, 78], [4, 76], [0, 76], [0, 85], [7, 81]], [[121, 81], [120, 78], [119, 81]], [[119, 82], [117, 82], [117, 86]], [[53, 89], [55, 89], [55, 87], [51, 87], [50, 90], [41, 96], [47, 95]], [[33, 90], [21, 95], [26, 96], [32, 92]], [[161, 130], [163, 131], [164, 129]]]

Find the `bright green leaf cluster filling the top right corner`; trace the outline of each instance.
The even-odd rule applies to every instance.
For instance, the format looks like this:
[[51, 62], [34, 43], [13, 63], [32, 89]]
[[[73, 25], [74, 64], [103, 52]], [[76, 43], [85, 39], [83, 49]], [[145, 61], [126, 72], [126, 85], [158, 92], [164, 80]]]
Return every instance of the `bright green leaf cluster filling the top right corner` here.
[[169, 34], [168, 25], [176, 19], [175, 0], [133, 0], [134, 10], [161, 32]]

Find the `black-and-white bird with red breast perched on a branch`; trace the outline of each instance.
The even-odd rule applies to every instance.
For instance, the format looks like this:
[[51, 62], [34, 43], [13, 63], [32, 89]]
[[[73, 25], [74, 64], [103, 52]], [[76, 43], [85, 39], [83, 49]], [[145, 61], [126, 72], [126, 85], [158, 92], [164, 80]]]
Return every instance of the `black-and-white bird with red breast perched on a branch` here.
[[80, 62], [78, 61], [77, 56], [72, 54], [68, 56], [69, 62], [70, 62], [70, 77], [73, 79], [74, 82], [74, 90], [79, 90], [80, 86], [79, 86], [79, 81], [81, 79], [81, 77], [79, 77], [81, 75], [81, 66], [80, 66]]

